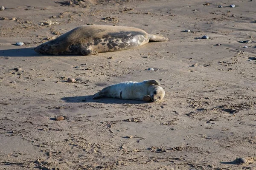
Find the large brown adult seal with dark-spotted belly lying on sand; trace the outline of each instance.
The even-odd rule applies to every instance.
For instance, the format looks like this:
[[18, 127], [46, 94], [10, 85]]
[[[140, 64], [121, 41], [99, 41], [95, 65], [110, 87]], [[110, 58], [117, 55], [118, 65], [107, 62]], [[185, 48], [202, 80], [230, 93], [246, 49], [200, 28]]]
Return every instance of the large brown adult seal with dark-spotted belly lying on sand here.
[[137, 47], [149, 41], [167, 41], [168, 38], [148, 34], [139, 28], [125, 26], [79, 26], [60, 37], [37, 46], [41, 54], [95, 55]]

